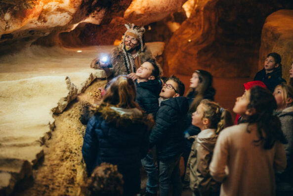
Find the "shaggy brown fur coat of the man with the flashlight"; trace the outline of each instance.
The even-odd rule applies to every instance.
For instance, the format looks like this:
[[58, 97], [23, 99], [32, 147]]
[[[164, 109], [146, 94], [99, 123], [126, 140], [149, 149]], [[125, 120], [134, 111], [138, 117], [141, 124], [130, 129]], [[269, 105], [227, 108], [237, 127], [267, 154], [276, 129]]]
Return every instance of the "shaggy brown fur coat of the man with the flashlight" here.
[[[114, 48], [111, 51], [111, 65], [113, 67], [114, 71], [114, 77], [119, 76], [119, 75], [127, 75], [131, 73], [127, 72], [126, 69], [126, 60], [123, 54], [123, 43], [121, 43], [118, 47]], [[144, 63], [148, 58], [155, 58], [151, 52], [150, 49], [148, 49], [147, 46], [143, 46], [143, 50], [141, 51], [140, 49], [137, 51], [138, 52], [138, 58], [140, 61], [140, 64]]]

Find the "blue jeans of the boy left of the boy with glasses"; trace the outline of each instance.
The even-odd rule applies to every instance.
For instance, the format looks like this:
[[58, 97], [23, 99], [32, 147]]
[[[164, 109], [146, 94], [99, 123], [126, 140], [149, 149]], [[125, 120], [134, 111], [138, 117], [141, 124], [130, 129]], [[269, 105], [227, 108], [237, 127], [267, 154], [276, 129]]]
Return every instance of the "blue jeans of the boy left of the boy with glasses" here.
[[143, 159], [141, 159], [141, 164], [148, 175], [146, 191], [151, 194], [157, 194], [158, 173], [152, 152], [148, 153]]

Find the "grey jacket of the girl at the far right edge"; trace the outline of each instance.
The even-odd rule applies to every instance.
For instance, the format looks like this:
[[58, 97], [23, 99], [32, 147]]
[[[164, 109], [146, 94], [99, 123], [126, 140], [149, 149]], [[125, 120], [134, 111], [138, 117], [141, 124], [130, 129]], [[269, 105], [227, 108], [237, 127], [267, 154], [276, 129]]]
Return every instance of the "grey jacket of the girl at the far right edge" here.
[[287, 157], [287, 167], [281, 175], [278, 175], [277, 187], [282, 191], [286, 189], [288, 190], [289, 187], [293, 190], [293, 106], [283, 109], [278, 113], [278, 116], [281, 121], [282, 131], [288, 140], [288, 144], [284, 144]]

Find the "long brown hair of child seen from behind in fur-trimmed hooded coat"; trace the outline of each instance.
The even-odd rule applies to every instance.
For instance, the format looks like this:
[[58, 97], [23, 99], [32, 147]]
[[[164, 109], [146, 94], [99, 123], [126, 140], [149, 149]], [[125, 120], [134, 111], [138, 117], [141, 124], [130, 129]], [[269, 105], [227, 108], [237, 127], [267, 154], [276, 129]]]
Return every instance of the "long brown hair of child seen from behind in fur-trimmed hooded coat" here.
[[[113, 78], [101, 104], [110, 104], [122, 108], [139, 108], [135, 102], [136, 88], [133, 80], [127, 76]], [[93, 109], [95, 110], [95, 109]]]

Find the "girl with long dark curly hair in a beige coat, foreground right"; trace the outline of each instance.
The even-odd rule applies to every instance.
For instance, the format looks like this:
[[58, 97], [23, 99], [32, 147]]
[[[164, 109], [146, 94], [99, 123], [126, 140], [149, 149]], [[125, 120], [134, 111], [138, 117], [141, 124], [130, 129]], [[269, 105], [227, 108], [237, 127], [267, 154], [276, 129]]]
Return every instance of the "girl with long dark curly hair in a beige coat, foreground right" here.
[[286, 139], [268, 90], [254, 86], [237, 98], [233, 111], [246, 123], [221, 131], [209, 164], [222, 182], [221, 196], [274, 196], [275, 171], [286, 168]]

